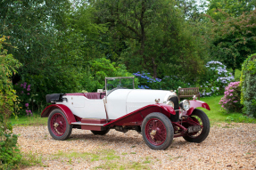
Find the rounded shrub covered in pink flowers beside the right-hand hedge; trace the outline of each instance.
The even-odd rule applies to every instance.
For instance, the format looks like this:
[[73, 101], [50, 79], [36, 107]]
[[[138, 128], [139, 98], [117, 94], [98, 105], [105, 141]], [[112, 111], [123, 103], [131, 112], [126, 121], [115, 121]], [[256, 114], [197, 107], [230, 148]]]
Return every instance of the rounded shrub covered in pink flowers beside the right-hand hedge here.
[[225, 88], [224, 97], [221, 98], [219, 104], [227, 111], [241, 111], [243, 106], [240, 103], [241, 99], [241, 86], [240, 82], [231, 82]]

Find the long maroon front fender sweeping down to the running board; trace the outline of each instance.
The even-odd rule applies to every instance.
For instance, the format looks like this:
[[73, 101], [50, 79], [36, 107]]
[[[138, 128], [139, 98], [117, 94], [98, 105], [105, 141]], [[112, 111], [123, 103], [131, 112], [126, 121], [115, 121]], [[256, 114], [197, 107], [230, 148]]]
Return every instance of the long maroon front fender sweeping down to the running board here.
[[175, 110], [167, 104], [150, 104], [141, 109], [136, 109], [133, 112], [128, 113], [123, 117], [119, 117], [111, 122], [105, 124], [106, 125], [142, 125], [144, 118], [153, 112], [161, 112], [167, 117], [170, 115], [175, 115]]

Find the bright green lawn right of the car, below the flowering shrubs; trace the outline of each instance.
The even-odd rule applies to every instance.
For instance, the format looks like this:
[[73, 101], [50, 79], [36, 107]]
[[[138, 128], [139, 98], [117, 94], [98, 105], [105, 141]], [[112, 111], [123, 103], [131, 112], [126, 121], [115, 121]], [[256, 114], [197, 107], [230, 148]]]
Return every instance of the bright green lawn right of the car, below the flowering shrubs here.
[[227, 113], [226, 110], [221, 109], [219, 104], [220, 99], [223, 96], [211, 96], [200, 98], [200, 101], [204, 101], [209, 104], [210, 109], [202, 109], [209, 117], [211, 123], [215, 122], [236, 122], [236, 123], [256, 123], [256, 118], [246, 117], [242, 113], [233, 112]]

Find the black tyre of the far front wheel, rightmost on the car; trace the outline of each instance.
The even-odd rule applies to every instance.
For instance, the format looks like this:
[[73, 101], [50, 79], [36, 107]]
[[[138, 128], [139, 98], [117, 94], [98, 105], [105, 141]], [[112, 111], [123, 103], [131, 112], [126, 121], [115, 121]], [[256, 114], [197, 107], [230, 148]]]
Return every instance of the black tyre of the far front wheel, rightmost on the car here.
[[[190, 115], [192, 118], [196, 118], [197, 121], [202, 124], [202, 130], [199, 131], [198, 133], [192, 133], [192, 134], [187, 134], [186, 136], [183, 136], [183, 138], [187, 142], [203, 142], [209, 132], [210, 132], [210, 121], [207, 115], [201, 110], [201, 109], [194, 109], [193, 113]], [[201, 119], [201, 120], [199, 120]]]

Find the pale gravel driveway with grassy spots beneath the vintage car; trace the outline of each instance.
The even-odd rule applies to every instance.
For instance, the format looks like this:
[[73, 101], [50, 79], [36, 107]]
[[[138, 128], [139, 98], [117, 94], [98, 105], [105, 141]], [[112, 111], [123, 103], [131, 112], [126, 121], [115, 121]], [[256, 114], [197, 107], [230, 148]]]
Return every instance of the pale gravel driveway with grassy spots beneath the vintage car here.
[[42, 158], [25, 169], [256, 169], [256, 124], [216, 124], [202, 143], [175, 138], [168, 150], [151, 150], [135, 131], [104, 136], [73, 129], [55, 141], [47, 126], [15, 126], [21, 151]]

